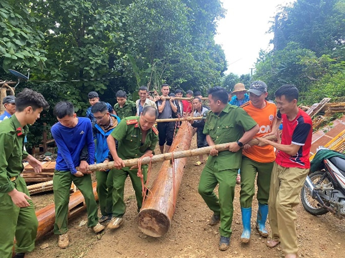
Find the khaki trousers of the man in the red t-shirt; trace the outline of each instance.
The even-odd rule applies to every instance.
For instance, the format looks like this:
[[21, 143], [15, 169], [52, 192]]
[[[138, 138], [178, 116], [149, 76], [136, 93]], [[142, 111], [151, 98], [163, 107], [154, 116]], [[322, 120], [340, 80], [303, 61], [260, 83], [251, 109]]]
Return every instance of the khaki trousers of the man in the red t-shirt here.
[[274, 163], [268, 199], [268, 218], [271, 238], [280, 242], [285, 254], [297, 254], [295, 221], [299, 193], [309, 169], [282, 167]]

